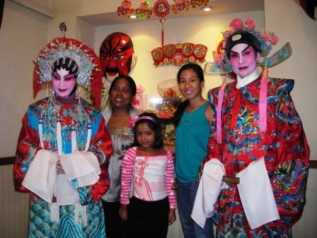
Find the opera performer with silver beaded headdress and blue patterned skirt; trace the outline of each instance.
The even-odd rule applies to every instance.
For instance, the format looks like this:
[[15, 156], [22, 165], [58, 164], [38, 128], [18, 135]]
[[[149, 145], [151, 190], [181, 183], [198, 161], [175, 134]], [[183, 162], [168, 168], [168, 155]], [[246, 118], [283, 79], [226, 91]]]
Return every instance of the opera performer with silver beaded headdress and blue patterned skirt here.
[[28, 237], [105, 237], [100, 198], [112, 142], [103, 115], [77, 90], [91, 84], [98, 103], [98, 57], [78, 40], [55, 38], [35, 60], [35, 95], [40, 83], [52, 94], [25, 113], [13, 171], [16, 188], [30, 193]]

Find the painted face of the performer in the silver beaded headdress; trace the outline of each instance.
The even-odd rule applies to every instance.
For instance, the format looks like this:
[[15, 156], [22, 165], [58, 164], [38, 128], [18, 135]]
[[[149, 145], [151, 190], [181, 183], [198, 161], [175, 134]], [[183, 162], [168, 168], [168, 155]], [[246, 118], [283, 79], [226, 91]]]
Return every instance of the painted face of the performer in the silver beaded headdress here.
[[66, 97], [71, 94], [76, 84], [74, 74], [69, 74], [66, 69], [57, 69], [57, 72], [52, 74], [52, 90], [61, 97]]

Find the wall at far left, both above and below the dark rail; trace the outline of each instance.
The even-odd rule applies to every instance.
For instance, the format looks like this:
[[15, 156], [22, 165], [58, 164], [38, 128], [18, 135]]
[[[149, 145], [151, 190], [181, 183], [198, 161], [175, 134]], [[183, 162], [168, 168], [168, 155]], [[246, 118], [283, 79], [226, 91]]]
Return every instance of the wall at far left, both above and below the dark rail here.
[[[0, 157], [12, 157], [16, 152], [23, 114], [33, 103], [32, 60], [47, 43], [49, 23], [49, 18], [5, 1], [0, 30]], [[28, 194], [14, 191], [12, 167], [0, 166], [3, 238], [26, 237], [28, 232]]]

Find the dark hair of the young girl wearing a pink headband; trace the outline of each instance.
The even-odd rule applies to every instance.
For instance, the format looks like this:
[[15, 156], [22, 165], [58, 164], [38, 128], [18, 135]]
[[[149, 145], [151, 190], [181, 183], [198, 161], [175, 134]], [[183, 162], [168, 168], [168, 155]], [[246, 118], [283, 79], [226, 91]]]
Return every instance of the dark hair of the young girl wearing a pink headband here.
[[151, 128], [151, 130], [154, 131], [154, 134], [155, 134], [153, 148], [154, 149], [163, 148], [163, 133], [162, 133], [162, 128], [161, 128], [161, 121], [154, 113], [148, 113], [148, 112], [141, 113], [139, 115], [139, 118], [142, 116], [151, 117], [155, 120], [155, 122], [153, 120], [149, 120], [149, 119], [141, 119], [141, 120], [138, 120], [137, 123], [135, 123], [134, 128], [133, 128], [134, 146], [140, 146], [139, 142], [137, 141], [137, 133], [136, 133], [137, 125], [142, 124], [142, 123], [146, 123], [147, 125], [149, 125], [149, 128]]

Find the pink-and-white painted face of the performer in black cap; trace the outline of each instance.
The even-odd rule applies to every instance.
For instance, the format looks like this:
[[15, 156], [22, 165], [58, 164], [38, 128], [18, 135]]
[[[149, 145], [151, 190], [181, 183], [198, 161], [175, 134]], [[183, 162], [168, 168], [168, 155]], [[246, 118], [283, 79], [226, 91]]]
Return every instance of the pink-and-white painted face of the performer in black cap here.
[[229, 53], [231, 67], [242, 79], [255, 71], [259, 57], [260, 53], [255, 52], [252, 46], [244, 43], [232, 47]]

